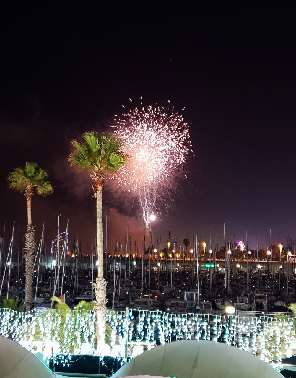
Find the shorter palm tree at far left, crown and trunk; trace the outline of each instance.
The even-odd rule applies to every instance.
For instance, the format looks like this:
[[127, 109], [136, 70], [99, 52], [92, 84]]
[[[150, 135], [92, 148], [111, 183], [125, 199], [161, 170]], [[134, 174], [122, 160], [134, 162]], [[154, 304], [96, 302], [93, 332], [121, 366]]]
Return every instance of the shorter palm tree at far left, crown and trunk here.
[[26, 311], [31, 310], [33, 291], [33, 266], [35, 249], [35, 226], [32, 226], [31, 201], [34, 192], [46, 197], [53, 192], [53, 187], [47, 181], [47, 172], [38, 168], [37, 163], [28, 163], [25, 167], [15, 168], [9, 173], [7, 181], [11, 189], [22, 193], [25, 192], [27, 199], [28, 225], [25, 234], [25, 306]]

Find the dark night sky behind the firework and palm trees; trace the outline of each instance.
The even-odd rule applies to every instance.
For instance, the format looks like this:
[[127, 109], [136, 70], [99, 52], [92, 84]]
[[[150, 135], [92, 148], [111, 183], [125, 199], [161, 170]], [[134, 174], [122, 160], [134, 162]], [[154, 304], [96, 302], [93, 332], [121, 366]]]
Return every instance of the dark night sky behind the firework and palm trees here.
[[[15, 5], [15, 4], [14, 4]], [[9, 7], [9, 8], [8, 8]], [[174, 209], [155, 224], [162, 240], [198, 232], [223, 243], [245, 230], [251, 248], [295, 235], [295, 68], [293, 12], [197, 13], [172, 6], [96, 9], [6, 5], [1, 9], [0, 224], [23, 233], [26, 201], [7, 188], [8, 173], [36, 161], [55, 187], [33, 198], [33, 224], [46, 220], [50, 240], [69, 219], [87, 243], [95, 234], [95, 201], [87, 175], [67, 163], [69, 141], [104, 130], [121, 104], [167, 100], [190, 123], [195, 156]], [[110, 200], [105, 193], [104, 200]], [[135, 206], [137, 206], [135, 204]], [[108, 209], [110, 240], [143, 226], [121, 207]], [[120, 223], [120, 226], [119, 226]], [[112, 237], [111, 237], [112, 236]]]

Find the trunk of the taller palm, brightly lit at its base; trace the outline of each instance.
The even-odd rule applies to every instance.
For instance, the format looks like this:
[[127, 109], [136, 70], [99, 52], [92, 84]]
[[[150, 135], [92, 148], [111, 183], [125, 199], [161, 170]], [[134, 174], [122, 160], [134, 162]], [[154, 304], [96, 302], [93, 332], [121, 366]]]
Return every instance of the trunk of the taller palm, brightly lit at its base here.
[[105, 316], [106, 316], [106, 286], [107, 282], [103, 275], [103, 228], [102, 228], [102, 186], [96, 183], [96, 212], [97, 212], [97, 258], [98, 258], [98, 277], [96, 278], [95, 295], [96, 295], [96, 338], [98, 340], [98, 349], [105, 342]]

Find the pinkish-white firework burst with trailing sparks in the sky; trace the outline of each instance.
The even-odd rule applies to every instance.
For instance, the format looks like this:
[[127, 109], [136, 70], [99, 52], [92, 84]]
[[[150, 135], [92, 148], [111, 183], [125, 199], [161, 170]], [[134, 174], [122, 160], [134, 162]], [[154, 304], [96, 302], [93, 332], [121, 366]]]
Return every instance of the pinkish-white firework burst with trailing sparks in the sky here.
[[139, 198], [146, 226], [183, 169], [191, 149], [188, 123], [174, 107], [147, 105], [115, 119], [115, 135], [130, 156], [113, 180]]

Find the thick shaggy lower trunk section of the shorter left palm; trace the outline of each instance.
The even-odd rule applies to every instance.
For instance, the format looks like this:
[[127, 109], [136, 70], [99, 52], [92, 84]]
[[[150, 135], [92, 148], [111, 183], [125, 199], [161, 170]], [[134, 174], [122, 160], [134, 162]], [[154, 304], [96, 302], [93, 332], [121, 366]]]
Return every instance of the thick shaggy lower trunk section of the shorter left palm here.
[[26, 311], [31, 310], [33, 297], [33, 266], [34, 266], [34, 251], [35, 251], [35, 226], [28, 225], [27, 233], [25, 234], [25, 306]]

